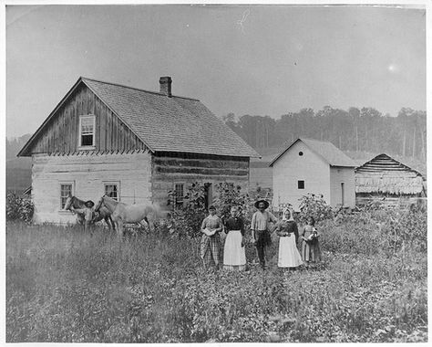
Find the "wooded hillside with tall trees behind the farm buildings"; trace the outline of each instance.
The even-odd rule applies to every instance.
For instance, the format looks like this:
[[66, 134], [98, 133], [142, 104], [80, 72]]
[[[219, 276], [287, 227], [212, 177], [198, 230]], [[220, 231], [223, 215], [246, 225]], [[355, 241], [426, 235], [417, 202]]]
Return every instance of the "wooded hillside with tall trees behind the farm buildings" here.
[[[391, 117], [373, 108], [340, 110], [326, 106], [318, 111], [291, 112], [276, 120], [257, 115], [237, 118], [229, 113], [223, 121], [262, 154], [265, 167], [293, 140], [306, 137], [333, 142], [358, 164], [385, 152], [426, 175], [426, 116], [424, 110], [408, 108]], [[31, 159], [16, 157], [30, 136], [6, 141], [8, 191], [21, 193], [31, 183]]]

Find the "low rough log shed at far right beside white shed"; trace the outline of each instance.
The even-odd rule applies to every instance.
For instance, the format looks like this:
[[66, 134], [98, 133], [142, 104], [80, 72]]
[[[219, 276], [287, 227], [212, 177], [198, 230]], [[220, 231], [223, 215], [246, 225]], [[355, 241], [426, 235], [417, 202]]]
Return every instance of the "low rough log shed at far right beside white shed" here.
[[355, 168], [355, 196], [358, 205], [385, 199], [396, 200], [426, 196], [423, 175], [382, 153]]

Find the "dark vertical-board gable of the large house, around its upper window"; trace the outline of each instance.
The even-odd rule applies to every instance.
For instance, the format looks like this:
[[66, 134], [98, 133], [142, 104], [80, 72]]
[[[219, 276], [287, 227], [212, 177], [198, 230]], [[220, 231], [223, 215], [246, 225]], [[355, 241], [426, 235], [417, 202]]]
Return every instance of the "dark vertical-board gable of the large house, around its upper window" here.
[[144, 143], [84, 83], [81, 83], [48, 121], [32, 152], [77, 152], [81, 115], [96, 116], [95, 151], [126, 152], [146, 148]]

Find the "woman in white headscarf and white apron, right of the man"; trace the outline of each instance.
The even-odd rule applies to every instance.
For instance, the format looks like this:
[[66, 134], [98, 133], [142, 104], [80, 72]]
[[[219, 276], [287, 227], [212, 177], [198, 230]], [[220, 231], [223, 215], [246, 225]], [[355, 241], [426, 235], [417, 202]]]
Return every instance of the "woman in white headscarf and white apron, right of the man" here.
[[302, 257], [297, 249], [298, 227], [288, 208], [283, 210], [283, 218], [276, 226], [276, 233], [280, 237], [277, 266], [279, 268], [297, 268], [302, 265]]

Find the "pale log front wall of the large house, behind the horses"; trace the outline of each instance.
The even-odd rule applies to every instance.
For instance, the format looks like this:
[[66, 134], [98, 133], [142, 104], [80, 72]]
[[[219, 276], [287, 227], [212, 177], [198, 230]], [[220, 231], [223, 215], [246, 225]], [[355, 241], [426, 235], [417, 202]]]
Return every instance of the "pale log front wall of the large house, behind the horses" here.
[[104, 183], [118, 182], [120, 201], [126, 204], [151, 200], [151, 155], [149, 152], [93, 155], [34, 155], [32, 198], [36, 223], [75, 222], [60, 210], [60, 184], [73, 183], [74, 195], [98, 203]]

